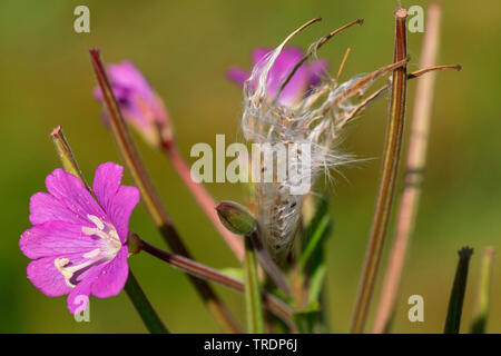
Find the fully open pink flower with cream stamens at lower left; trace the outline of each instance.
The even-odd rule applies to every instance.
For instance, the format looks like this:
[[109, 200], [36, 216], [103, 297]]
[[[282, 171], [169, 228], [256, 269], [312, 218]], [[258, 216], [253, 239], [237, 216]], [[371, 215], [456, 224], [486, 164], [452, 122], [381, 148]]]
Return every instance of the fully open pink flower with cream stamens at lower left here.
[[[49, 297], [68, 294], [72, 314], [82, 310], [81, 299], [115, 296], [127, 280], [128, 224], [139, 190], [120, 185], [122, 170], [112, 162], [96, 169], [92, 189], [98, 201], [79, 178], [62, 169], [47, 177], [48, 194], [31, 197], [33, 226], [19, 241], [32, 259], [28, 278]], [[79, 296], [87, 298], [76, 300]]]

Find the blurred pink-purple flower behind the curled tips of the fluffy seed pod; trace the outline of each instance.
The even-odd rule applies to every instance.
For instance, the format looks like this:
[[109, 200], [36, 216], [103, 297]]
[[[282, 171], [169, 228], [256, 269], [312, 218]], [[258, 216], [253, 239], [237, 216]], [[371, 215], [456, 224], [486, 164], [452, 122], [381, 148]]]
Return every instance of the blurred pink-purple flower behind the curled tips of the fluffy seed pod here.
[[[271, 51], [271, 48], [256, 48], [253, 51], [253, 67], [262, 61]], [[271, 98], [275, 97], [284, 80], [288, 77], [303, 56], [303, 50], [296, 47], [286, 48], [281, 52], [269, 72], [267, 91]], [[327, 62], [323, 59], [313, 62], [304, 62], [282, 91], [278, 102], [284, 106], [294, 105], [304, 97], [312, 86], [315, 86], [321, 81], [321, 76], [325, 70], [327, 70]], [[240, 68], [234, 67], [228, 70], [227, 76], [230, 80], [243, 85], [250, 75]]]

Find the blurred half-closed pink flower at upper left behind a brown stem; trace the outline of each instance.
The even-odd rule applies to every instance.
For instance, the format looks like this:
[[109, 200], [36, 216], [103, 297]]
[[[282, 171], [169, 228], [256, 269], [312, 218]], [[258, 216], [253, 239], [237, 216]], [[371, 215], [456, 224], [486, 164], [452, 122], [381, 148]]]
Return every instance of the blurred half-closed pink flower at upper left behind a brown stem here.
[[[171, 139], [171, 128], [164, 101], [151, 89], [146, 78], [130, 61], [107, 66], [109, 81], [124, 118], [154, 146]], [[99, 87], [94, 89], [96, 99], [102, 102]], [[104, 111], [104, 120], [108, 117]]]

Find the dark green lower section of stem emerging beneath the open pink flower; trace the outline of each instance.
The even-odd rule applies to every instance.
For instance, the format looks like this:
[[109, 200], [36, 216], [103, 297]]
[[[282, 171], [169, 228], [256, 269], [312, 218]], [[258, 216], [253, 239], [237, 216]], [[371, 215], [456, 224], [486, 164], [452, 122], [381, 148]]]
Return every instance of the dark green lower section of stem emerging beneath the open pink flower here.
[[134, 276], [132, 271], [129, 269], [129, 276], [125, 285], [125, 290], [127, 296], [132, 301], [136, 307], [137, 313], [139, 313], [143, 322], [151, 334], [168, 334], [169, 330], [164, 325], [164, 323], [158, 317], [157, 313], [153, 308], [148, 298], [146, 298], [139, 283]]

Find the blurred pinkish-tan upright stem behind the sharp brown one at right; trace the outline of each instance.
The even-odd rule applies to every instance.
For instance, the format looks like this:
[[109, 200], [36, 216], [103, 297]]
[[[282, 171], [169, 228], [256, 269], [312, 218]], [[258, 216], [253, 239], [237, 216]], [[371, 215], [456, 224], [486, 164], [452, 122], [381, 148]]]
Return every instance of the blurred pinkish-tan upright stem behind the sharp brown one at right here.
[[[440, 12], [441, 10], [438, 3], [432, 3], [428, 10], [426, 33], [423, 40], [423, 51], [420, 60], [421, 68], [432, 67], [435, 63]], [[416, 86], [404, 190], [396, 217], [396, 231], [393, 238], [393, 246], [380, 295], [373, 328], [375, 334], [385, 333], [390, 328], [395, 310], [409, 239], [414, 233], [421, 196], [421, 184], [426, 166], [434, 81], [435, 73], [431, 73], [420, 79]]]

